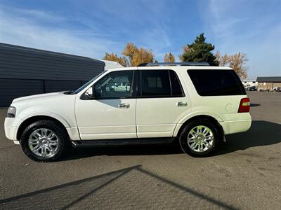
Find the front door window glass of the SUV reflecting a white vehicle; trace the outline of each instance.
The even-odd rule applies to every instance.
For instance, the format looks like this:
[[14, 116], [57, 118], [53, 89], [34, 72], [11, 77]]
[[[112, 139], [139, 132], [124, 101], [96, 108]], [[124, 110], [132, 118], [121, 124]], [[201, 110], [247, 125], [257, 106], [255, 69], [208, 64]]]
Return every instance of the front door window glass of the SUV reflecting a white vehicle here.
[[94, 85], [97, 99], [120, 99], [131, 97], [133, 71], [113, 71], [107, 73]]

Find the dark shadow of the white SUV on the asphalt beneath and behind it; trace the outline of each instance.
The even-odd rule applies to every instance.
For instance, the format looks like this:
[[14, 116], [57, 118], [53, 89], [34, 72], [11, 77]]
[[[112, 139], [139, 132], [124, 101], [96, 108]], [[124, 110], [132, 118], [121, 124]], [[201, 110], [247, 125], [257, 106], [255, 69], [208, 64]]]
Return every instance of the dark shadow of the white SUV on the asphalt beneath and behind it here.
[[[263, 120], [252, 121], [247, 132], [226, 136], [226, 143], [221, 144], [211, 156], [233, 153], [255, 146], [266, 146], [281, 142], [281, 125]], [[172, 144], [140, 146], [97, 146], [91, 148], [72, 148], [60, 161], [88, 158], [96, 155], [169, 155], [183, 153], [175, 141]]]

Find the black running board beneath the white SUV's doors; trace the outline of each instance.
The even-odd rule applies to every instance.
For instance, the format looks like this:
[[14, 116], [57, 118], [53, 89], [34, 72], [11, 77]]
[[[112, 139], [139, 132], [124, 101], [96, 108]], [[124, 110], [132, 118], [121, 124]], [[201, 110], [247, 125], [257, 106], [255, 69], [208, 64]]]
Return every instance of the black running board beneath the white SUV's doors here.
[[174, 139], [176, 138], [81, 140], [72, 141], [72, 147], [170, 144]]

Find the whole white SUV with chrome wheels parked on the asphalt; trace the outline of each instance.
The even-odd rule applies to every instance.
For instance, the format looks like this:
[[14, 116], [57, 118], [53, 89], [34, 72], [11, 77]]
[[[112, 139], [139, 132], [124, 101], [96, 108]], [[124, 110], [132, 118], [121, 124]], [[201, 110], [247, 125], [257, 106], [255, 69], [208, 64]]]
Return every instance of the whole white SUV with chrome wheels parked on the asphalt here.
[[147, 64], [104, 71], [71, 92], [14, 99], [5, 132], [39, 162], [59, 158], [70, 145], [164, 144], [174, 139], [185, 153], [202, 156], [214, 151], [224, 135], [249, 130], [249, 106], [233, 69]]

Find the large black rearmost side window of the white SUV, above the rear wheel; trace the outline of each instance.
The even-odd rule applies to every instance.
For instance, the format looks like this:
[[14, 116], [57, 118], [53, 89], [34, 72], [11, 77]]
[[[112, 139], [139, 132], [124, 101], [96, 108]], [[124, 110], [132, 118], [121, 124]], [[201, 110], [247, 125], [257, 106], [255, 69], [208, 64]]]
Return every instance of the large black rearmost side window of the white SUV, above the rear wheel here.
[[233, 70], [188, 70], [188, 75], [201, 96], [246, 94]]

